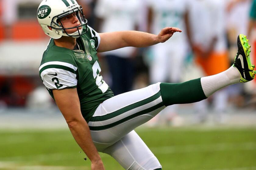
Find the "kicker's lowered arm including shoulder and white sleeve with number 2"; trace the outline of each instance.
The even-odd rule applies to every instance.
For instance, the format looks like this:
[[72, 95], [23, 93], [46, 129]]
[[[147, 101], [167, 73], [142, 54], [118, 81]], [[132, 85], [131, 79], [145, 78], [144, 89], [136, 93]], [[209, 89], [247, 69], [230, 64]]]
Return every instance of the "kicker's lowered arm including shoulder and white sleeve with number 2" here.
[[[59, 61], [60, 56], [61, 61]], [[68, 50], [63, 52], [52, 50], [45, 53], [44, 58], [46, 62], [43, 60], [39, 67], [39, 75], [44, 86], [54, 97], [77, 144], [91, 160], [92, 170], [104, 170], [101, 158], [93, 144], [88, 124], [81, 113], [76, 89], [78, 67], [72, 54]], [[47, 61], [48, 58], [51, 60]]]

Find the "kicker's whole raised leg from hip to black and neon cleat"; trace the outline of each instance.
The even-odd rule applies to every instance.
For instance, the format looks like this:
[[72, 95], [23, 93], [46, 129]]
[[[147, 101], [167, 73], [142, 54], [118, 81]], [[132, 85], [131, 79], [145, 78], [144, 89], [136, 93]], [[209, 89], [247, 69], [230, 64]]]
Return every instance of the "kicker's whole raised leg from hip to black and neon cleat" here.
[[184, 83], [156, 83], [105, 100], [88, 123], [93, 141], [113, 144], [149, 121], [164, 106], [197, 102], [230, 84], [253, 80], [255, 71], [248, 54], [249, 45], [241, 35], [238, 40], [243, 45], [239, 46], [234, 66], [222, 73]]

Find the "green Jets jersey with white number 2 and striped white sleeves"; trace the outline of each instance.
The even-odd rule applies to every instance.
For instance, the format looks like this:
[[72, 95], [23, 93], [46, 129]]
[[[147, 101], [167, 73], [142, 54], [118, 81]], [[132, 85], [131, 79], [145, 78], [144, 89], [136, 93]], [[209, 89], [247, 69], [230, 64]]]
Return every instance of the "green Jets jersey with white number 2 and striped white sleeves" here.
[[98, 105], [114, 94], [100, 75], [97, 56], [100, 36], [89, 26], [85, 31], [86, 34], [76, 39], [79, 50], [56, 46], [51, 39], [39, 75], [53, 99], [53, 89], [77, 88], [81, 112], [88, 122]]

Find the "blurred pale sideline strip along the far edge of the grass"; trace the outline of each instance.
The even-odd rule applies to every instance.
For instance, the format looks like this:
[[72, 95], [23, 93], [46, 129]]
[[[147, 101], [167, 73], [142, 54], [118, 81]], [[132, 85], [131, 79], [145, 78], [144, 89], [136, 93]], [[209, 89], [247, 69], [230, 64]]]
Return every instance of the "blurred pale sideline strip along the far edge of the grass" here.
[[[212, 117], [214, 114], [209, 114], [209, 120], [199, 127], [192, 124], [194, 114], [191, 112], [191, 106], [181, 107], [179, 116], [185, 121], [183, 127], [185, 130], [207, 131], [212, 129], [225, 129], [230, 127], [251, 127], [255, 128], [256, 115], [252, 110], [234, 110], [228, 109], [228, 120], [226, 124], [219, 126], [214, 124]], [[142, 127], [145, 127], [143, 125]], [[187, 128], [186, 128], [187, 127]], [[0, 129], [3, 130], [51, 130], [51, 129], [68, 129], [66, 121], [59, 109], [52, 110], [30, 110], [30, 109], [8, 109], [1, 112], [0, 110]], [[146, 129], [148, 130], [148, 129]], [[176, 128], [161, 128], [161, 131], [176, 131]]]

